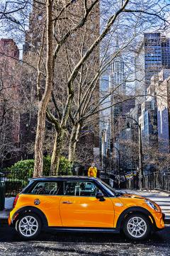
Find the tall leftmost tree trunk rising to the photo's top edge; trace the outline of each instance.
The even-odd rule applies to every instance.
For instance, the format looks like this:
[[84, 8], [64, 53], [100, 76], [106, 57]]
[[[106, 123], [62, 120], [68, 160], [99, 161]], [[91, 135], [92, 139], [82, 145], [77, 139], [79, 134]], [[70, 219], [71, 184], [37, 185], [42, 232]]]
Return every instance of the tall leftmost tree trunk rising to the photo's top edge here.
[[47, 0], [46, 2], [47, 12], [47, 57], [46, 57], [46, 81], [45, 81], [45, 92], [42, 95], [38, 107], [38, 125], [35, 138], [35, 165], [33, 177], [41, 177], [43, 170], [43, 143], [45, 136], [45, 118], [47, 105], [50, 101], [52, 93], [52, 60], [53, 60], [53, 38], [52, 38], [52, 1]]

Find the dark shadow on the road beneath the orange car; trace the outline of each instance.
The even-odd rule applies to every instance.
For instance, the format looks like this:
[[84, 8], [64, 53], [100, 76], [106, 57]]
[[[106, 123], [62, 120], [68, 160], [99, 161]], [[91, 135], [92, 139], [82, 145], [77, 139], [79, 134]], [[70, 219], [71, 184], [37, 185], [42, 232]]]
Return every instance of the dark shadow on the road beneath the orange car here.
[[[0, 228], [0, 243], [1, 242], [21, 242], [24, 241], [18, 236], [14, 228], [3, 226]], [[169, 243], [170, 245], [170, 227], [150, 235], [149, 239], [144, 241], [132, 241], [125, 238], [122, 234], [111, 233], [57, 233], [55, 230], [42, 231], [42, 233], [33, 240], [34, 243], [42, 242], [57, 242], [57, 243], [133, 243], [133, 244], [150, 244], [150, 243]]]

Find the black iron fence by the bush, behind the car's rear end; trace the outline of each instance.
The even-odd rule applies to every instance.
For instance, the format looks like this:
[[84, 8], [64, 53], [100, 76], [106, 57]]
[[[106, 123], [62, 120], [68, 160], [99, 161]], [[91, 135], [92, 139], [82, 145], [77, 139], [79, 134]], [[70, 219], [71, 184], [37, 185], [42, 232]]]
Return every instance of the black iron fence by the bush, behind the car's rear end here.
[[5, 184], [6, 197], [16, 196], [28, 184], [28, 180], [18, 179], [17, 175], [11, 175], [10, 172], [2, 173], [1, 180]]

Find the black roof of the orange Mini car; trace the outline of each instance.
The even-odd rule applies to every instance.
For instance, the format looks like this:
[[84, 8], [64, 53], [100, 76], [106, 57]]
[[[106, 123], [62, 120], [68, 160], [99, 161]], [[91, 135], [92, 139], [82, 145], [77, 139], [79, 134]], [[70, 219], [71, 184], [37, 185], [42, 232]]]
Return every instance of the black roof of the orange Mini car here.
[[91, 180], [94, 181], [98, 178], [94, 177], [88, 177], [88, 176], [51, 176], [51, 177], [38, 177], [38, 178], [33, 178], [30, 179], [30, 181], [53, 181], [53, 180], [72, 180], [72, 181], [83, 181], [83, 180]]

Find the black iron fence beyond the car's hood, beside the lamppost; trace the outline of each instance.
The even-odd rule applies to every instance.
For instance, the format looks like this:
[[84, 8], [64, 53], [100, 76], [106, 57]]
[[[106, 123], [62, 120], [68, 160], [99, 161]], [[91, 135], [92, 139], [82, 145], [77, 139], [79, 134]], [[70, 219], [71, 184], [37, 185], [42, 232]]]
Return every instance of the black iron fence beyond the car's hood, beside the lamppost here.
[[[138, 182], [135, 179], [127, 180], [127, 189], [137, 189]], [[161, 189], [170, 191], [170, 173], [151, 173], [143, 176], [144, 189]]]

